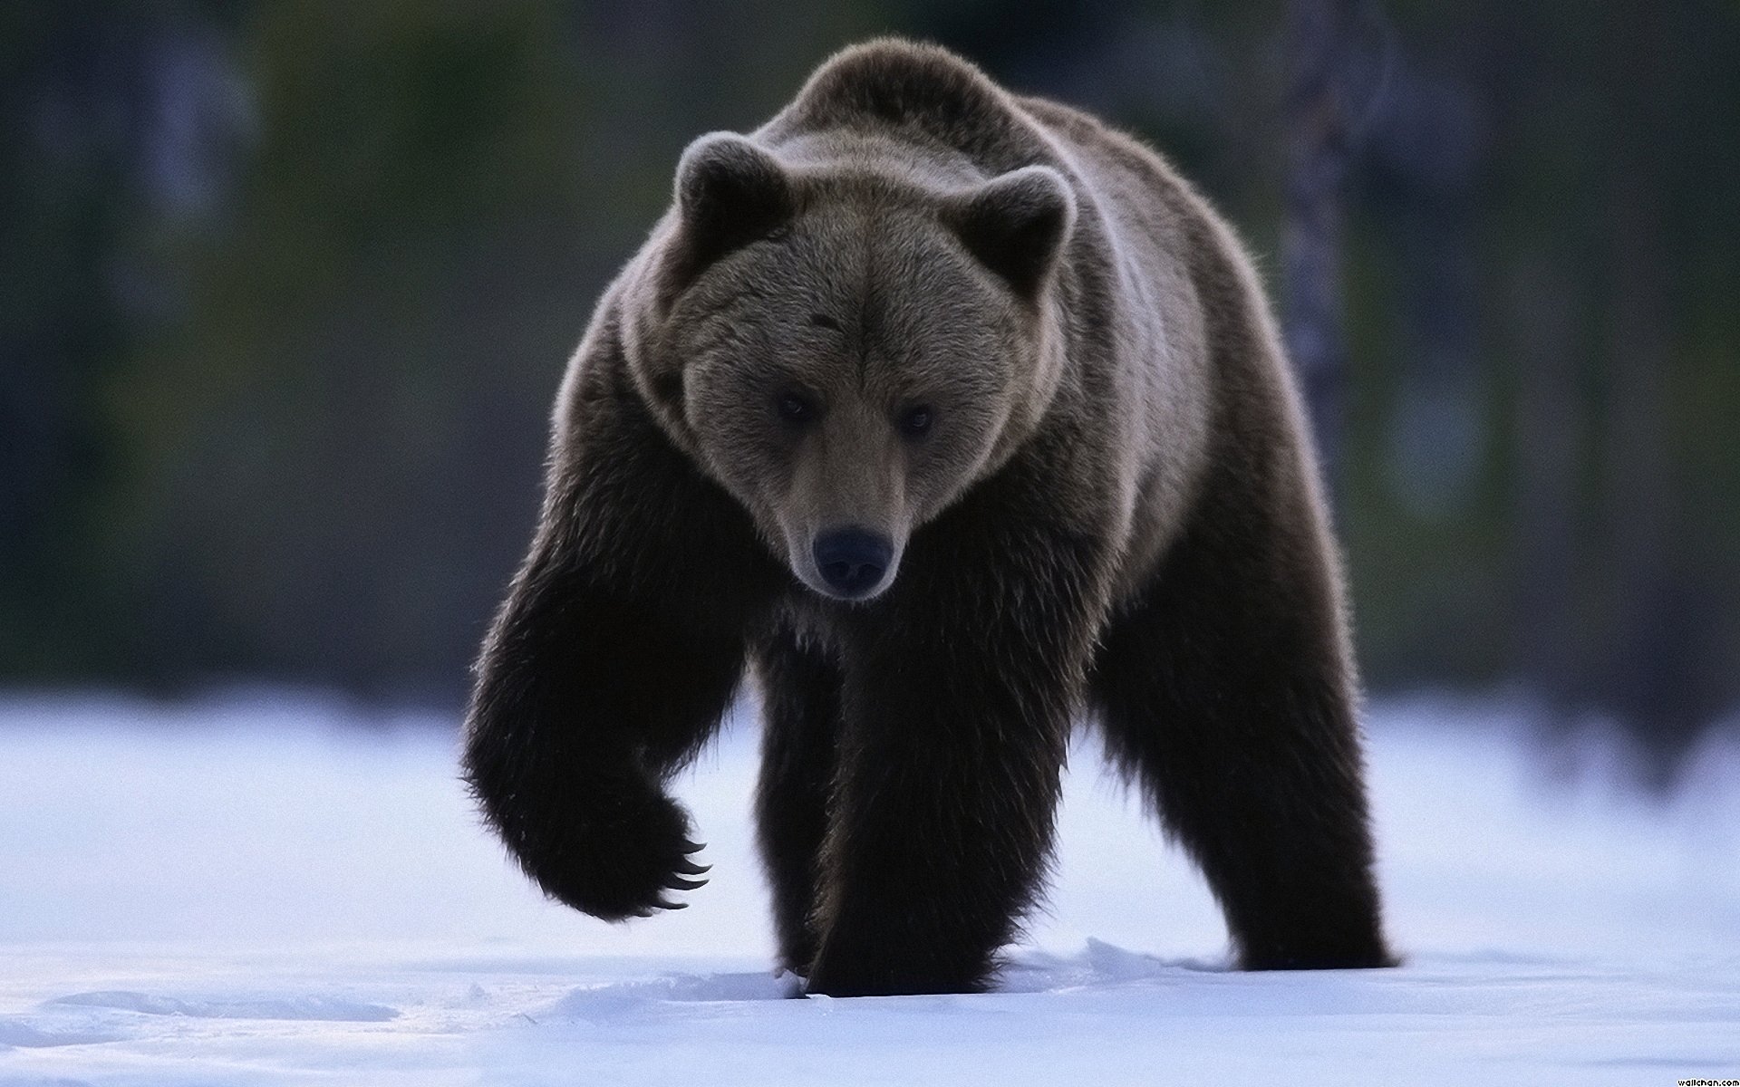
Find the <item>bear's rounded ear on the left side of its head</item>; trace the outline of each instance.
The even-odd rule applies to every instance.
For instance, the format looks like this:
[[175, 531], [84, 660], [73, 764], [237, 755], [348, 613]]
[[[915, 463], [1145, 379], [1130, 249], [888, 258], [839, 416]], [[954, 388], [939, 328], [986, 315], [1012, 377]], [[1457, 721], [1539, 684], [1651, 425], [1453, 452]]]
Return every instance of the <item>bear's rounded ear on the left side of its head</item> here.
[[780, 162], [736, 132], [710, 132], [677, 163], [677, 214], [689, 277], [792, 217]]

